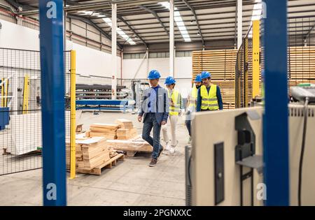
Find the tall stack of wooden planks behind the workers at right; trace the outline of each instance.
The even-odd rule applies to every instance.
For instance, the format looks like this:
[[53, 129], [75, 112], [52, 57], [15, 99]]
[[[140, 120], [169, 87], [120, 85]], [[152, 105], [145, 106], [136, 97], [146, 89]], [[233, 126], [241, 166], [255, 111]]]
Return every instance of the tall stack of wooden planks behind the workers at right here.
[[[252, 53], [252, 49], [248, 48], [248, 101], [251, 101], [252, 97]], [[193, 78], [202, 71], [209, 71], [212, 82], [221, 87], [224, 109], [235, 108], [236, 59], [237, 50], [193, 52]], [[262, 59], [261, 65], [263, 64]], [[288, 47], [288, 86], [300, 83], [315, 83], [315, 46]]]

